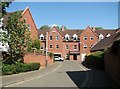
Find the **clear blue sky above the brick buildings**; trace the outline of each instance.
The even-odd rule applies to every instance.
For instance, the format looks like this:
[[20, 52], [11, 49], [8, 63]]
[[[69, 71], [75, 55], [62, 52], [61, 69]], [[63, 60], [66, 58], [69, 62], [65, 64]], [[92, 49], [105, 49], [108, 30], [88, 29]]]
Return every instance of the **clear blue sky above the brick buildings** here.
[[69, 29], [85, 29], [87, 26], [118, 28], [117, 2], [13, 2], [7, 11], [23, 10], [27, 6], [37, 28], [53, 24]]

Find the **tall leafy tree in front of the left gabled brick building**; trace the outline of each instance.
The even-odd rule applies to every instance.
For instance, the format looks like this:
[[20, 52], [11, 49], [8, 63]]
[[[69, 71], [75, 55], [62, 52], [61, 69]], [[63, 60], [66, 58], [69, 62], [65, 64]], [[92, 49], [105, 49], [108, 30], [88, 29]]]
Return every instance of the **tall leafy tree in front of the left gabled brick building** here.
[[9, 57], [6, 62], [14, 63], [21, 60], [30, 43], [30, 32], [20, 12], [15, 12], [8, 17], [4, 31], [6, 33], [3, 35], [3, 41], [9, 45]]

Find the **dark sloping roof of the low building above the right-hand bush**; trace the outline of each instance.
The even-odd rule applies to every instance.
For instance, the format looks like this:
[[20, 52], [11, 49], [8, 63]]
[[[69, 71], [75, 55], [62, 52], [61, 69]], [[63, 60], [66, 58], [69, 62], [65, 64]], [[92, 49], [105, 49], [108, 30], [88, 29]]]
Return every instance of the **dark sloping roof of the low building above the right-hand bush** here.
[[108, 38], [104, 38], [100, 40], [96, 45], [94, 45], [91, 48], [91, 51], [109, 48], [113, 44], [114, 41], [119, 40], [119, 39], [120, 39], [120, 32], [115, 33], [114, 35]]

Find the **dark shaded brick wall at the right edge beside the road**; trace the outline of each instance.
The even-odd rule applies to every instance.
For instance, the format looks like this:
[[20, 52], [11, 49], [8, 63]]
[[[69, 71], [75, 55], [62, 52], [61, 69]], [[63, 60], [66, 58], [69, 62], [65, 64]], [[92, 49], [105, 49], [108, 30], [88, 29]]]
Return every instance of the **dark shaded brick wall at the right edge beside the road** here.
[[115, 56], [110, 51], [104, 55], [105, 71], [120, 84], [120, 55]]

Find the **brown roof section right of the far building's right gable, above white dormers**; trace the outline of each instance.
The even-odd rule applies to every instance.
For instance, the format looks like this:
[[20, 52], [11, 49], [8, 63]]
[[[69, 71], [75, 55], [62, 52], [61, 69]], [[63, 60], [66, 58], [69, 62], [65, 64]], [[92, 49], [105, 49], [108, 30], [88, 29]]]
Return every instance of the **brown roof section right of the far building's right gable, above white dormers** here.
[[113, 35], [115, 34], [116, 30], [115, 29], [104, 29], [104, 30], [96, 30], [95, 33], [98, 35], [102, 34], [103, 36], [107, 36], [107, 34]]

